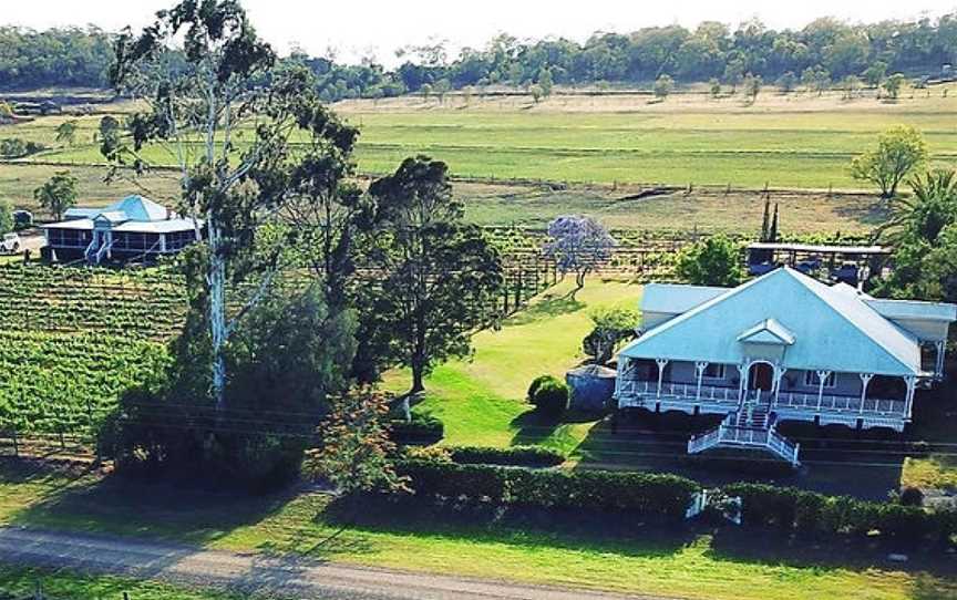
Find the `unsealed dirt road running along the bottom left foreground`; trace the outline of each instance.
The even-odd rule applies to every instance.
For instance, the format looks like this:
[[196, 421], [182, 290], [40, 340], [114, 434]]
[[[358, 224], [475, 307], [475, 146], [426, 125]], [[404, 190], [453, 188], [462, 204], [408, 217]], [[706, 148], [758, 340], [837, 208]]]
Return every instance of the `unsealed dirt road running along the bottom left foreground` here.
[[663, 600], [14, 527], [0, 527], [0, 562], [323, 600]]

